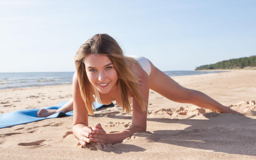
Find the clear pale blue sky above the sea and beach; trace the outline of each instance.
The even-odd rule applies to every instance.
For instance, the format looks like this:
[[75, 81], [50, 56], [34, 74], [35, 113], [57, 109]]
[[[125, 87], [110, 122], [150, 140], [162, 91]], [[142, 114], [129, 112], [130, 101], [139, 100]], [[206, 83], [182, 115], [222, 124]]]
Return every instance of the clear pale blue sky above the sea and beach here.
[[96, 33], [162, 71], [256, 55], [256, 0], [1, 0], [0, 72], [75, 71]]

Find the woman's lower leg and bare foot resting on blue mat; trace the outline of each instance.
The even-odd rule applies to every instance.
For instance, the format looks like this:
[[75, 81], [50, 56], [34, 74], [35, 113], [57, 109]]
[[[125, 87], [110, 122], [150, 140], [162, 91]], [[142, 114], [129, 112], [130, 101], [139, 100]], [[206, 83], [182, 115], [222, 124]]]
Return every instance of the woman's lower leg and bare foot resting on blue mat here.
[[57, 112], [69, 112], [73, 110], [73, 98], [69, 100], [64, 106], [59, 108], [58, 110], [52, 110], [52, 109], [41, 109], [37, 112], [37, 117], [48, 117], [50, 115], [53, 115]]

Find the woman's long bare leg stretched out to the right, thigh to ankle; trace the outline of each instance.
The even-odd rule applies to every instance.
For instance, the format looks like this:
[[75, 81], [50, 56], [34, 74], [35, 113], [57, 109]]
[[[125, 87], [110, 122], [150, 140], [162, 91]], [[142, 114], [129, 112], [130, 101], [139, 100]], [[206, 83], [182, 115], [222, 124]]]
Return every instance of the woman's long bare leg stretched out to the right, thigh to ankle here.
[[150, 89], [156, 91], [164, 97], [175, 102], [190, 103], [202, 108], [216, 110], [222, 113], [238, 113], [229, 107], [223, 106], [200, 91], [187, 89], [181, 86], [172, 78], [156, 68], [151, 62], [150, 65]]

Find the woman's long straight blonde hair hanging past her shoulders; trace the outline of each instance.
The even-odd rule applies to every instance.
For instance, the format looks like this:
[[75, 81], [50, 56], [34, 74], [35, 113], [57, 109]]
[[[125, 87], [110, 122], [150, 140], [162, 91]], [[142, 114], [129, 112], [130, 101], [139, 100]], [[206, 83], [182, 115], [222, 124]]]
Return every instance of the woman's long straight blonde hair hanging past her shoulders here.
[[130, 113], [131, 111], [131, 104], [128, 97], [131, 91], [139, 102], [141, 111], [146, 111], [146, 103], [139, 90], [139, 78], [132, 72], [132, 64], [138, 62], [133, 58], [124, 56], [123, 50], [111, 36], [107, 34], [96, 34], [80, 46], [74, 58], [80, 93], [89, 114], [94, 115], [91, 104], [95, 107], [93, 103], [95, 101], [93, 97], [95, 93], [93, 85], [89, 82], [85, 71], [84, 58], [90, 54], [106, 55], [113, 63], [118, 76], [117, 86], [121, 94], [122, 110], [125, 110], [126, 113]]

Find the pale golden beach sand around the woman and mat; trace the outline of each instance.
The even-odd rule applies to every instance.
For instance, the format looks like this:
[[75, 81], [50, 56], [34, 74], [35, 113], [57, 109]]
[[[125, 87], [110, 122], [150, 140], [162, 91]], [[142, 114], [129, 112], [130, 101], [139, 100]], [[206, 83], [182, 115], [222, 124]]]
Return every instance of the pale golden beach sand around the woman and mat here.
[[[81, 148], [72, 118], [45, 119], [0, 129], [1, 159], [256, 159], [256, 70], [173, 77], [189, 89], [223, 105], [244, 108], [244, 115], [221, 114], [172, 102], [150, 90], [147, 131], [123, 143]], [[54, 106], [72, 97], [72, 85], [0, 90], [0, 114]], [[115, 104], [115, 102], [114, 102]], [[117, 105], [89, 116], [107, 133], [127, 129], [132, 114]]]

